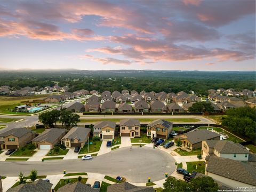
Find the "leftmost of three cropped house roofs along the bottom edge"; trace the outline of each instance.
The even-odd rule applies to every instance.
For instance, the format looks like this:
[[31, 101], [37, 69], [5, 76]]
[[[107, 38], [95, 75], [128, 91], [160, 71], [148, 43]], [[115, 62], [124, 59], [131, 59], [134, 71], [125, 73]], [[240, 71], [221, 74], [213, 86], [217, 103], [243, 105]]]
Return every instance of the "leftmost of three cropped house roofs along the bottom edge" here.
[[7, 192], [49, 192], [51, 188], [52, 183], [39, 179], [32, 183], [20, 184], [17, 187], [10, 188]]

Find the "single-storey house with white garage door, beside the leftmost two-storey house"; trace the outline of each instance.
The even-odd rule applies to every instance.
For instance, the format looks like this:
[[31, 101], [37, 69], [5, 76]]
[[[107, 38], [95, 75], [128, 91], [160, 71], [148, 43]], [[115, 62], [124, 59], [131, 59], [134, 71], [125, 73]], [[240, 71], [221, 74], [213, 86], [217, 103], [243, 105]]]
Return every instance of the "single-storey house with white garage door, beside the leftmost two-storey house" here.
[[43, 133], [39, 134], [32, 141], [36, 144], [38, 149], [53, 149], [56, 144], [65, 135], [65, 129], [51, 128], [46, 129]]

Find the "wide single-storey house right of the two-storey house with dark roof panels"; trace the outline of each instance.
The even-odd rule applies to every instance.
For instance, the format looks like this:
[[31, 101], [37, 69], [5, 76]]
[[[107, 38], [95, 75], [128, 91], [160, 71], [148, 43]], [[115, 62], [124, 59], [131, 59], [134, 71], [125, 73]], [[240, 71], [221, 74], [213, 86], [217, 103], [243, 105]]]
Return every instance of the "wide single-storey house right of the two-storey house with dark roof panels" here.
[[220, 134], [213, 131], [201, 129], [174, 136], [174, 141], [182, 141], [182, 147], [194, 150], [202, 147], [202, 141], [220, 140]]

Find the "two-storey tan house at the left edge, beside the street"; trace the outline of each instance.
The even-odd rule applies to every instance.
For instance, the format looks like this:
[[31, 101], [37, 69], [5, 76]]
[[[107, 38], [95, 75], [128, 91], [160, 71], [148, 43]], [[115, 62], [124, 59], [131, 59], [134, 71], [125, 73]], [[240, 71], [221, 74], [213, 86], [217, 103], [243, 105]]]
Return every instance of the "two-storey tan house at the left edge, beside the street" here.
[[0, 134], [1, 149], [19, 149], [35, 138], [35, 132], [26, 128], [15, 128]]

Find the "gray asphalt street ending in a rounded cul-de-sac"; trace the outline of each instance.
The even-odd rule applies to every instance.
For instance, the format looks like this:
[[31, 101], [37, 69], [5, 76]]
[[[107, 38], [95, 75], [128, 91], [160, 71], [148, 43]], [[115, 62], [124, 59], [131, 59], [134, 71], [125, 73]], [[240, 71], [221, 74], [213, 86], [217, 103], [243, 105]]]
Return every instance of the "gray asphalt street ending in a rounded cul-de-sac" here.
[[165, 178], [175, 171], [174, 158], [157, 149], [133, 146], [111, 151], [92, 160], [51, 160], [45, 162], [1, 162], [0, 175], [17, 176], [20, 171], [28, 175], [35, 169], [39, 175], [62, 174], [71, 172], [93, 172], [106, 175], [121, 175], [130, 182], [147, 182]]

